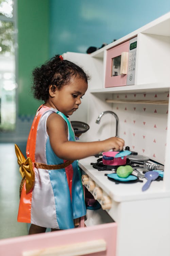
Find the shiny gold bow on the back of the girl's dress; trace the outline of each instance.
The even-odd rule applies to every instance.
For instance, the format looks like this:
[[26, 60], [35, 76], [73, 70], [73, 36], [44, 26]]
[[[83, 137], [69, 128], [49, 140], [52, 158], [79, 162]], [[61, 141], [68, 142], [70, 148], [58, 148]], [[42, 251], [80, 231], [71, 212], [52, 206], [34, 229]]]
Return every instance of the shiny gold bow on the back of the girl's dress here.
[[32, 160], [30, 157], [24, 157], [19, 147], [15, 144], [15, 153], [18, 158], [19, 172], [23, 177], [26, 177], [26, 194], [28, 194], [34, 186], [35, 173], [33, 170]]

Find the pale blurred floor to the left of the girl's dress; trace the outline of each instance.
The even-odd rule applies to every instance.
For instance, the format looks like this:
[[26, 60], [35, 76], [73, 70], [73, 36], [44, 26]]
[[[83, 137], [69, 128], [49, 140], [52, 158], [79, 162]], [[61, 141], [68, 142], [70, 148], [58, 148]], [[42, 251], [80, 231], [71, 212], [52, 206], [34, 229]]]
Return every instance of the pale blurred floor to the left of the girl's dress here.
[[[25, 155], [25, 143], [18, 144]], [[0, 239], [28, 234], [26, 223], [17, 222], [21, 175], [13, 143], [0, 143]]]

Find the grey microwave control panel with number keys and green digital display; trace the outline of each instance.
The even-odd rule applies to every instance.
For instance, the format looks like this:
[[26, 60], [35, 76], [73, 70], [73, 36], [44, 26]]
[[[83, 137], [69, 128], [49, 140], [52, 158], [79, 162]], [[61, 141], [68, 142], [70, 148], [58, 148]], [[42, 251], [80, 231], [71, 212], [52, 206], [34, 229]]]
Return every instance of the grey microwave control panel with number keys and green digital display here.
[[137, 37], [129, 41], [127, 85], [135, 84]]

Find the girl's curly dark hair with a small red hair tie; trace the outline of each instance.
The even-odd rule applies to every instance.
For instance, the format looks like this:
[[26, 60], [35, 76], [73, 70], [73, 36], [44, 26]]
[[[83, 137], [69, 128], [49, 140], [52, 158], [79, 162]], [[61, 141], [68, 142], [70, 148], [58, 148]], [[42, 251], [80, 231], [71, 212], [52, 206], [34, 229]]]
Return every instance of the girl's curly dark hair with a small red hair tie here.
[[87, 82], [90, 77], [75, 63], [64, 60], [61, 55], [55, 55], [46, 61], [41, 67], [33, 70], [33, 86], [31, 87], [35, 99], [44, 100], [49, 98], [49, 85], [56, 85], [60, 90], [67, 85], [72, 76], [79, 76]]

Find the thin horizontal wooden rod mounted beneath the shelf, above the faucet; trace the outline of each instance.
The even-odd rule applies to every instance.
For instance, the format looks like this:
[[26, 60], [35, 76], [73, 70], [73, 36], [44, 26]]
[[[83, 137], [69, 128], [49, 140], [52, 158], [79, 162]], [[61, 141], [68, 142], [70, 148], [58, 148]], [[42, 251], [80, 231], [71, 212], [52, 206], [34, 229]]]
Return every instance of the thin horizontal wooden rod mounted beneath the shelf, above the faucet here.
[[168, 105], [169, 100], [108, 100], [107, 103], [136, 103], [136, 104], [155, 104], [155, 105]]

